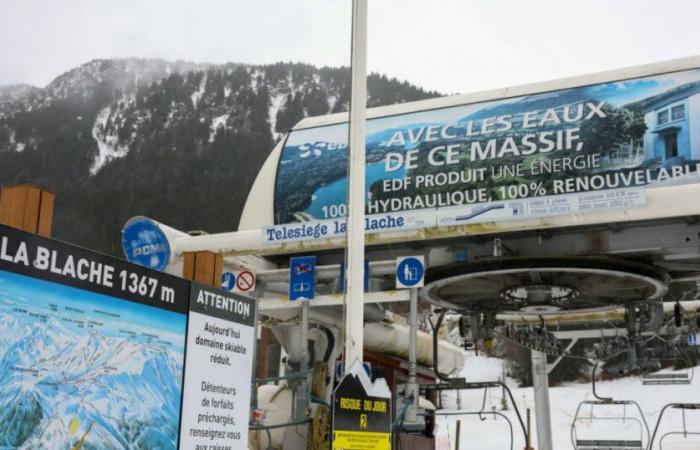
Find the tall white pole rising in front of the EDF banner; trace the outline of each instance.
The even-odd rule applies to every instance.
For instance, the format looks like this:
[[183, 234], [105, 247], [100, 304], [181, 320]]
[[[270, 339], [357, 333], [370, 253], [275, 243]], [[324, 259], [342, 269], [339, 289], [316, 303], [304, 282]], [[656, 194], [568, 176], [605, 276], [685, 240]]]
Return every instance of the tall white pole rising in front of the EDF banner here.
[[365, 261], [365, 109], [367, 108], [367, 0], [352, 2], [348, 158], [345, 367], [362, 361]]

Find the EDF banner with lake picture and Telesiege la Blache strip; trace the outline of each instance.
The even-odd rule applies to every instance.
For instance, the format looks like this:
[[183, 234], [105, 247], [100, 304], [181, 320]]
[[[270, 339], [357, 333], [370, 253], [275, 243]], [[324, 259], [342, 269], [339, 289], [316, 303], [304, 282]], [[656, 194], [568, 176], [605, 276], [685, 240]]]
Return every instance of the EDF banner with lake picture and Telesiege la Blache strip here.
[[[347, 137], [289, 135], [266, 242], [345, 233]], [[366, 149], [368, 232], [643, 208], [700, 181], [700, 70], [370, 119]]]

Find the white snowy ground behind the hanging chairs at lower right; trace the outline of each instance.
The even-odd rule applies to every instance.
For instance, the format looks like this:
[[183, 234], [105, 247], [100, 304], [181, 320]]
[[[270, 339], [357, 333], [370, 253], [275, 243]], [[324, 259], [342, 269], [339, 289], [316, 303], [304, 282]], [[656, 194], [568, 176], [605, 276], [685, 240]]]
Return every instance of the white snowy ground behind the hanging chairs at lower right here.
[[[464, 366], [463, 374], [467, 381], [497, 380], [502, 373], [502, 360], [470, 355]], [[671, 402], [700, 403], [700, 367], [695, 369], [693, 383], [678, 386], [643, 386], [637, 377], [627, 377], [614, 381], [602, 381], [596, 384], [598, 394], [603, 397], [613, 397], [615, 400], [634, 400], [639, 403], [646, 421], [653, 433], [659, 412], [664, 405]], [[537, 427], [534, 418], [535, 402], [532, 388], [517, 388], [513, 380], [508, 380], [513, 390], [513, 396], [520, 408], [523, 420], [525, 411], [530, 408], [532, 414], [532, 446], [537, 445]], [[444, 394], [443, 411], [457, 408], [456, 393]], [[576, 408], [583, 400], [595, 400], [590, 384], [569, 383], [552, 387], [549, 391], [552, 411], [552, 433], [555, 450], [573, 449], [571, 443], [571, 423]], [[513, 424], [514, 449], [525, 447], [523, 433], [512, 408], [501, 411], [501, 389], [489, 389], [486, 393], [486, 411], [505, 414]], [[479, 411], [484, 400], [484, 391], [460, 391], [459, 403], [461, 410]], [[593, 410], [594, 417], [602, 420], [582, 420], [578, 422], [576, 432], [581, 439], [639, 439], [639, 413], [635, 414], [633, 406], [598, 407]], [[590, 416], [590, 406], [582, 408], [582, 414]], [[624, 418], [624, 419], [623, 419]], [[478, 416], [445, 416], [438, 420], [439, 450], [455, 449], [455, 431], [457, 419], [461, 420], [460, 449], [462, 450], [506, 450], [510, 448], [510, 432], [508, 424], [501, 418], [494, 419], [492, 415], [480, 420]], [[700, 410], [687, 411], [685, 417], [687, 430], [700, 432]], [[669, 409], [664, 413], [664, 419], [654, 440], [653, 450], [660, 449], [659, 438], [666, 432], [682, 431], [683, 415], [680, 410]], [[647, 437], [644, 432], [643, 441]], [[676, 436], [669, 435], [663, 440], [664, 450], [699, 450], [700, 435]]]

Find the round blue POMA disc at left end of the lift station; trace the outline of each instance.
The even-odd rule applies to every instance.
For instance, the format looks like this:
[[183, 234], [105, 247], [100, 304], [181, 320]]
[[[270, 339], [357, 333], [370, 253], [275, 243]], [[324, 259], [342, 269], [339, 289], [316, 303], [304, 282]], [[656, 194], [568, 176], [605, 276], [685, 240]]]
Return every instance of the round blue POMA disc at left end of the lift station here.
[[129, 220], [122, 231], [122, 249], [126, 260], [163, 271], [170, 261], [170, 244], [163, 230], [145, 217]]

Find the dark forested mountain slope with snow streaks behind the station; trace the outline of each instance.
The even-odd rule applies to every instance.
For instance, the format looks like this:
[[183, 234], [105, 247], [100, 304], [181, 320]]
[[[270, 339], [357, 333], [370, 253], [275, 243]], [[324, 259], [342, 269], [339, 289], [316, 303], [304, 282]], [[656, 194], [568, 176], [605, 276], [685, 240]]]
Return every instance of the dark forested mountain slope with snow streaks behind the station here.
[[[138, 214], [235, 230], [258, 169], [306, 116], [346, 111], [347, 68], [93, 60], [44, 88], [0, 87], [0, 186], [57, 194], [54, 236], [121, 255]], [[370, 107], [435, 97], [368, 77]]]

